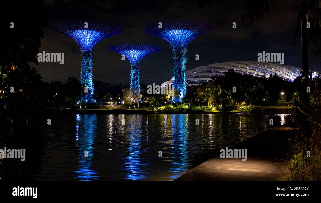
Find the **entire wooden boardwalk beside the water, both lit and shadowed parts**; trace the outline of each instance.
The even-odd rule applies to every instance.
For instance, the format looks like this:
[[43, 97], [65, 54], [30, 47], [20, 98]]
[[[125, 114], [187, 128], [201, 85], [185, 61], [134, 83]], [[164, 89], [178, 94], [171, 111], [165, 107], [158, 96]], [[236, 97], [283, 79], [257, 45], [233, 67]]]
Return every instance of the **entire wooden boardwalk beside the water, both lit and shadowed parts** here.
[[[274, 181], [289, 174], [284, 154], [289, 127], [276, 127], [238, 143], [230, 149], [247, 149], [247, 160], [215, 156], [178, 177], [177, 181]], [[280, 158], [280, 159], [276, 159]]]

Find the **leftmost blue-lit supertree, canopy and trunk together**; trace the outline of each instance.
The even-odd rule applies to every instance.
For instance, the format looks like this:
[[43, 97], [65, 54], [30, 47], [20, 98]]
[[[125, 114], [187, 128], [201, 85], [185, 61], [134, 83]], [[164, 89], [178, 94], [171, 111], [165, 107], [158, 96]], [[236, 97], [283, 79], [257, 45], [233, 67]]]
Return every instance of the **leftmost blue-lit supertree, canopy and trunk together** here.
[[72, 20], [64, 23], [53, 23], [50, 26], [53, 30], [65, 34], [74, 39], [80, 46], [82, 53], [81, 78], [80, 82], [87, 87], [83, 91], [82, 102], [94, 102], [94, 87], [92, 83], [92, 55], [93, 46], [100, 40], [120, 34], [122, 29], [117, 25], [110, 25], [100, 21]]

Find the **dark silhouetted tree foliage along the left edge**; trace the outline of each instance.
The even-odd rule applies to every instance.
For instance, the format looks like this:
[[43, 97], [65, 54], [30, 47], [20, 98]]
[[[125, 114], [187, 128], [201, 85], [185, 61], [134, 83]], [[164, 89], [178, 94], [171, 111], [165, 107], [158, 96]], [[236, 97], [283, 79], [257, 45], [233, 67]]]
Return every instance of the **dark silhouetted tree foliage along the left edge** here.
[[5, 40], [0, 46], [0, 128], [4, 128], [10, 123], [29, 124], [33, 112], [46, 105], [44, 83], [28, 62], [38, 64], [41, 26], [48, 22], [40, 0], [9, 1], [1, 8], [1, 34]]

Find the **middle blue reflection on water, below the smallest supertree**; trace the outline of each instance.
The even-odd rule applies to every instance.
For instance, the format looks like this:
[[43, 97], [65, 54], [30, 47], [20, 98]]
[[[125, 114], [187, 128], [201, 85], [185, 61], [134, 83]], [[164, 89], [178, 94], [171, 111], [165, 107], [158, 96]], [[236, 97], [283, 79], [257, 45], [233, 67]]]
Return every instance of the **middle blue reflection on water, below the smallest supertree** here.
[[125, 175], [126, 179], [131, 180], [145, 180], [147, 178], [148, 172], [143, 168], [148, 163], [143, 162], [141, 155], [146, 152], [146, 149], [141, 148], [142, 142], [142, 116], [141, 115], [131, 115], [129, 124], [129, 155], [125, 158], [125, 171], [129, 172]]

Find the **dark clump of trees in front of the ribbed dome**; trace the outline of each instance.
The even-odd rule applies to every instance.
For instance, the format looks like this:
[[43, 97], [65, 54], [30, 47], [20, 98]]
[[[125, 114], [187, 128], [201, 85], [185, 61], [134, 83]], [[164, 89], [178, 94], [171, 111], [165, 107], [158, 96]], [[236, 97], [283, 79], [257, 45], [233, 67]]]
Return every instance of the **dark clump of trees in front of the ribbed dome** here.
[[220, 110], [219, 106], [225, 111], [255, 110], [263, 102], [281, 99], [281, 92], [284, 93], [284, 101], [290, 101], [298, 93], [295, 89], [296, 83], [283, 80], [277, 75], [265, 79], [229, 70], [224, 75], [213, 76], [206, 83], [187, 87], [183, 101], [189, 105], [212, 105], [216, 107], [215, 110]]

